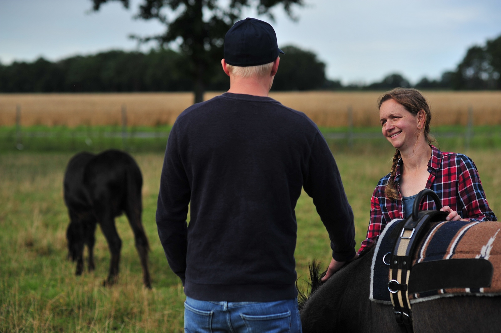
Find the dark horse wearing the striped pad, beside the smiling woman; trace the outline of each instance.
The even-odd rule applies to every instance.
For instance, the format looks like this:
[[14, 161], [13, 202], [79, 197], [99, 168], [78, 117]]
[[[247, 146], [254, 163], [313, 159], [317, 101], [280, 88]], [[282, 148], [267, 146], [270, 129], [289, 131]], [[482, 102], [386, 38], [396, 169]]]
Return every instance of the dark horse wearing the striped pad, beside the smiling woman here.
[[[312, 290], [301, 299], [303, 332], [402, 332], [393, 307], [369, 300], [374, 247], [322, 283], [310, 267]], [[412, 304], [415, 333], [499, 332], [500, 296], [456, 296]]]

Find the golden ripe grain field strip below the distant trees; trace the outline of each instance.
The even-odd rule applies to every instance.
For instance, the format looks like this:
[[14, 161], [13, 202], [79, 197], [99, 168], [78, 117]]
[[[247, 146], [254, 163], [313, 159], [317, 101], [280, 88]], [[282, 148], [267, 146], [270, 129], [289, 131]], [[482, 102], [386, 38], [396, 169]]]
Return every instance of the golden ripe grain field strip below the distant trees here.
[[[211, 98], [220, 92], [207, 92]], [[284, 105], [305, 112], [319, 126], [347, 126], [348, 108], [355, 126], [379, 123], [377, 99], [382, 91], [367, 92], [272, 92]], [[434, 112], [433, 125], [465, 125], [468, 107], [475, 125], [501, 124], [501, 91], [424, 91]], [[192, 102], [190, 92], [0, 94], [0, 126], [16, 123], [16, 105], [21, 107], [21, 124], [29, 125], [116, 125], [122, 123], [122, 106], [127, 123], [133, 126], [172, 124]]]

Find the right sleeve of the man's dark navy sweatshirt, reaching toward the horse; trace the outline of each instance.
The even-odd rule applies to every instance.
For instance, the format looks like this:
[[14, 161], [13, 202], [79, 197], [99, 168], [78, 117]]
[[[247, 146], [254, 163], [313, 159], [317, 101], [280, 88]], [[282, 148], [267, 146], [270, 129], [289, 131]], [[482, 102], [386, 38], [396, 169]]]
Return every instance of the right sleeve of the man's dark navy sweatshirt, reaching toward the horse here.
[[304, 175], [305, 191], [313, 198], [331, 240], [332, 257], [346, 261], [355, 256], [353, 211], [344, 191], [332, 152], [320, 132], [312, 145]]

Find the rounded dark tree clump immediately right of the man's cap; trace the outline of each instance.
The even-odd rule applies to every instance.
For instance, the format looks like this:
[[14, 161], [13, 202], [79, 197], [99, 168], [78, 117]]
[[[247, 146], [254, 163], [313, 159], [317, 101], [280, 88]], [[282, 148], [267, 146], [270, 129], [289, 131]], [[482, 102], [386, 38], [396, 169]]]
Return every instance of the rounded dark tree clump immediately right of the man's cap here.
[[325, 86], [325, 63], [319, 61], [315, 53], [293, 45], [281, 49], [286, 54], [280, 59], [272, 89], [312, 90]]

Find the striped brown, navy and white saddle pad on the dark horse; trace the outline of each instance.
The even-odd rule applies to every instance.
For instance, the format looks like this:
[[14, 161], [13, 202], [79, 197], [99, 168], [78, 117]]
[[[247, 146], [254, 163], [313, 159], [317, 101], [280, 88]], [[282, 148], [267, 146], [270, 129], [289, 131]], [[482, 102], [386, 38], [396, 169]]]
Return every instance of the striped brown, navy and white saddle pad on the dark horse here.
[[[395, 239], [400, 235], [402, 219], [388, 223], [376, 242], [371, 267], [369, 298], [391, 304], [388, 290], [389, 265], [383, 260], [393, 251]], [[446, 259], [487, 259], [493, 274], [489, 287], [445, 288], [409, 294], [411, 303], [455, 295], [501, 295], [501, 223], [495, 221], [444, 221], [429, 223], [429, 230], [420, 240], [413, 255], [413, 265], [419, 262]], [[442, 261], [443, 262], [443, 261]], [[440, 264], [436, 262], [435, 264]], [[412, 269], [410, 272], [412, 278]], [[410, 284], [409, 284], [410, 285]], [[410, 289], [409, 289], [410, 290]]]

